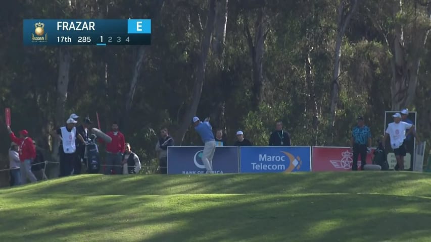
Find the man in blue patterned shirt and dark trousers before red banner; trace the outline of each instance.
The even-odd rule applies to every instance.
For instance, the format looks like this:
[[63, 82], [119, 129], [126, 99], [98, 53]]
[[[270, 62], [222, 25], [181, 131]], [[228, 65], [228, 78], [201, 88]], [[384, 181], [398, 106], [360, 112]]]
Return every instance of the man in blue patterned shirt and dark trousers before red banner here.
[[352, 170], [358, 170], [358, 156], [361, 155], [361, 170], [366, 165], [367, 153], [370, 153], [371, 132], [368, 126], [364, 125], [364, 118], [357, 118], [358, 125], [353, 128], [352, 138], [350, 139], [350, 149], [353, 151]]

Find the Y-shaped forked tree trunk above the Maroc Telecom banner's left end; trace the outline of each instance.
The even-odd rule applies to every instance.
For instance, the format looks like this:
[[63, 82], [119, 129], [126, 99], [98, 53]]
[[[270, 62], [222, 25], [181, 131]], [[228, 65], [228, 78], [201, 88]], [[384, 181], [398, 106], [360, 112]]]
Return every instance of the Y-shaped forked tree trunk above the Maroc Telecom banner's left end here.
[[255, 23], [255, 36], [254, 39], [251, 35], [250, 28], [248, 26], [248, 20], [245, 18], [245, 31], [246, 37], [249, 44], [250, 54], [252, 56], [252, 69], [253, 69], [253, 99], [252, 106], [257, 109], [263, 99], [263, 53], [265, 38], [269, 30], [264, 30], [263, 27], [263, 8], [258, 11], [256, 23]]

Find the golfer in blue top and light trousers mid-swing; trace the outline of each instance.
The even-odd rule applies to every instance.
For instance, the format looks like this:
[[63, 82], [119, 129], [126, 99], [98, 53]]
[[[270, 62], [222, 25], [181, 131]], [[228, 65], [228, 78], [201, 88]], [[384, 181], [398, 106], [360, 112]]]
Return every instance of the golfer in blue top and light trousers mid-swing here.
[[207, 169], [207, 173], [214, 173], [213, 156], [216, 148], [216, 143], [209, 120], [210, 118], [207, 117], [204, 122], [201, 122], [199, 117], [193, 117], [191, 123], [193, 124], [196, 132], [198, 132], [198, 134], [201, 136], [202, 141], [205, 144], [204, 152], [202, 154], [202, 162]]

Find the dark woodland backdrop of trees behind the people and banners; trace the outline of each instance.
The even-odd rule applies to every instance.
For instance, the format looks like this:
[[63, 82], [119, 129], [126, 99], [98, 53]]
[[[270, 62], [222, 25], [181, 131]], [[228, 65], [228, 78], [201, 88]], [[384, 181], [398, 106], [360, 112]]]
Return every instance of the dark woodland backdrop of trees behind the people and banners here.
[[[407, 107], [418, 111], [418, 131], [427, 139], [430, 10], [418, 0], [10, 1], [0, 8], [0, 106], [12, 109], [13, 130], [29, 130], [49, 152], [49, 130], [72, 112], [93, 120], [98, 112], [104, 131], [121, 122], [145, 162], [155, 158], [162, 127], [177, 145], [201, 144], [184, 130], [195, 114], [210, 116], [231, 144], [244, 130], [265, 145], [281, 119], [295, 145], [344, 146], [357, 115], [377, 138], [384, 111]], [[340, 35], [340, 20], [350, 13]], [[25, 18], [152, 18], [152, 45], [23, 46]], [[331, 110], [337, 43], [338, 105]], [[64, 108], [58, 104], [62, 51], [70, 54]], [[201, 81], [202, 92], [193, 95]], [[4, 167], [9, 139], [6, 128], [1, 132]]]

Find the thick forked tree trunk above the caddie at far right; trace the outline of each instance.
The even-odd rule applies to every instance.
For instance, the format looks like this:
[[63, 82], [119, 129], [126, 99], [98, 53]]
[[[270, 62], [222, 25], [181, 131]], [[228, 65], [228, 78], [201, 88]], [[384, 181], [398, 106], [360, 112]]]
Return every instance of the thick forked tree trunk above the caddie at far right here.
[[[402, 13], [402, 2], [397, 5], [395, 13]], [[431, 20], [431, 8], [427, 8], [427, 16]], [[429, 34], [428, 28], [418, 29], [410, 51], [404, 43], [404, 31], [401, 24], [395, 25], [395, 37], [392, 43], [392, 80], [391, 96], [392, 110], [401, 110], [413, 103], [416, 94], [417, 76], [423, 48]], [[408, 57], [409, 55], [409, 57]]]

